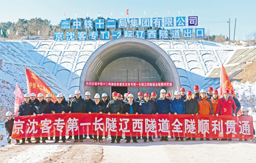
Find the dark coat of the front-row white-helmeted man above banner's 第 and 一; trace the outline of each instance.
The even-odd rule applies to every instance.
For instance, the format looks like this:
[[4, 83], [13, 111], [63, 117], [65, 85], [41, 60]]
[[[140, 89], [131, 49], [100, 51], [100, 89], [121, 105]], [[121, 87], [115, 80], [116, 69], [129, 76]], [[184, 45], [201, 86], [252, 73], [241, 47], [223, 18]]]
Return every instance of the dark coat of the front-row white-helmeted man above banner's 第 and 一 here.
[[80, 96], [79, 98], [74, 98], [70, 104], [71, 113], [86, 113], [87, 105], [84, 99]]

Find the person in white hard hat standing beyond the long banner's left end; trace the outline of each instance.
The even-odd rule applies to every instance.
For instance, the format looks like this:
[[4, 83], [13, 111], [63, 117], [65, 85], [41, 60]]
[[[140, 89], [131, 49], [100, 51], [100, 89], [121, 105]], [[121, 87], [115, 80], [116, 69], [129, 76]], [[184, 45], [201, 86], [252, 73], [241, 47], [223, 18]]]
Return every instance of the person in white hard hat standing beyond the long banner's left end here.
[[[6, 118], [7, 118], [7, 120], [4, 122], [4, 127], [6, 130], [7, 142], [8, 142], [8, 144], [11, 144], [12, 128], [13, 128], [13, 124], [14, 124], [14, 119], [12, 118], [12, 112], [7, 112]], [[16, 143], [19, 144], [19, 140], [16, 140]]]

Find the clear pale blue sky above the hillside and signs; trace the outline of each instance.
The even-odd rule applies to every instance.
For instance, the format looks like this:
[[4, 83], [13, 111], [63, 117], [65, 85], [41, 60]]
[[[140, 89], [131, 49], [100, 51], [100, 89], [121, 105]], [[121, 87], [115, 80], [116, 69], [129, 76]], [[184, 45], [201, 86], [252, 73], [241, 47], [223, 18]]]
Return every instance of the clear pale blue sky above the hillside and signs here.
[[[227, 1], [227, 0], [212, 0], [212, 1], [55, 1], [55, 0], [9, 0], [1, 1], [0, 22], [16, 22], [18, 18], [35, 18], [51, 20], [52, 24], [57, 24], [63, 19], [63, 13], [66, 17], [75, 18], [75, 12], [78, 17], [86, 17], [87, 12], [93, 19], [100, 16], [107, 18], [123, 17], [126, 9], [129, 9], [130, 18], [135, 13], [135, 17], [141, 18], [146, 11], [146, 17], [167, 17], [169, 16], [198, 16], [199, 25], [197, 28], [205, 28], [205, 32], [210, 31], [210, 35], [227, 35], [228, 36], [228, 19], [230, 18], [230, 38], [233, 39], [234, 20], [237, 18], [236, 39], [243, 40], [244, 35], [247, 36], [256, 32], [256, 16], [255, 16], [256, 1]], [[180, 10], [180, 15], [178, 13]], [[194, 13], [192, 14], [192, 10]]]

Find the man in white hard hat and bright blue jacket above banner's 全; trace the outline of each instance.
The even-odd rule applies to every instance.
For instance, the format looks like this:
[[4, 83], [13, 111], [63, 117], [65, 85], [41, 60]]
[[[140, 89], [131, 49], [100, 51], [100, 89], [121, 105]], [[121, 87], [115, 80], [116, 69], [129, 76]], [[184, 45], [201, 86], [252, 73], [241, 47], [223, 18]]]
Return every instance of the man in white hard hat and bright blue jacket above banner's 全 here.
[[[180, 98], [180, 92], [175, 91], [175, 98], [170, 102], [170, 112], [177, 114], [185, 114], [185, 103], [184, 100]], [[179, 137], [175, 137], [175, 141], [179, 141]], [[180, 137], [180, 141], [184, 141], [183, 138]]]

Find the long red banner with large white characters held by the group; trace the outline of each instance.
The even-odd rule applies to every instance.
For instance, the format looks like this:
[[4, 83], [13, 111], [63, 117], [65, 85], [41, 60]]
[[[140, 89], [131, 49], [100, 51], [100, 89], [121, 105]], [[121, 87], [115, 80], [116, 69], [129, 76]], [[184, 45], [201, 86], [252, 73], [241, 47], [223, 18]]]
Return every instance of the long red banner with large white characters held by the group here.
[[175, 136], [252, 139], [252, 117], [211, 115], [44, 114], [15, 117], [12, 138], [59, 135]]

